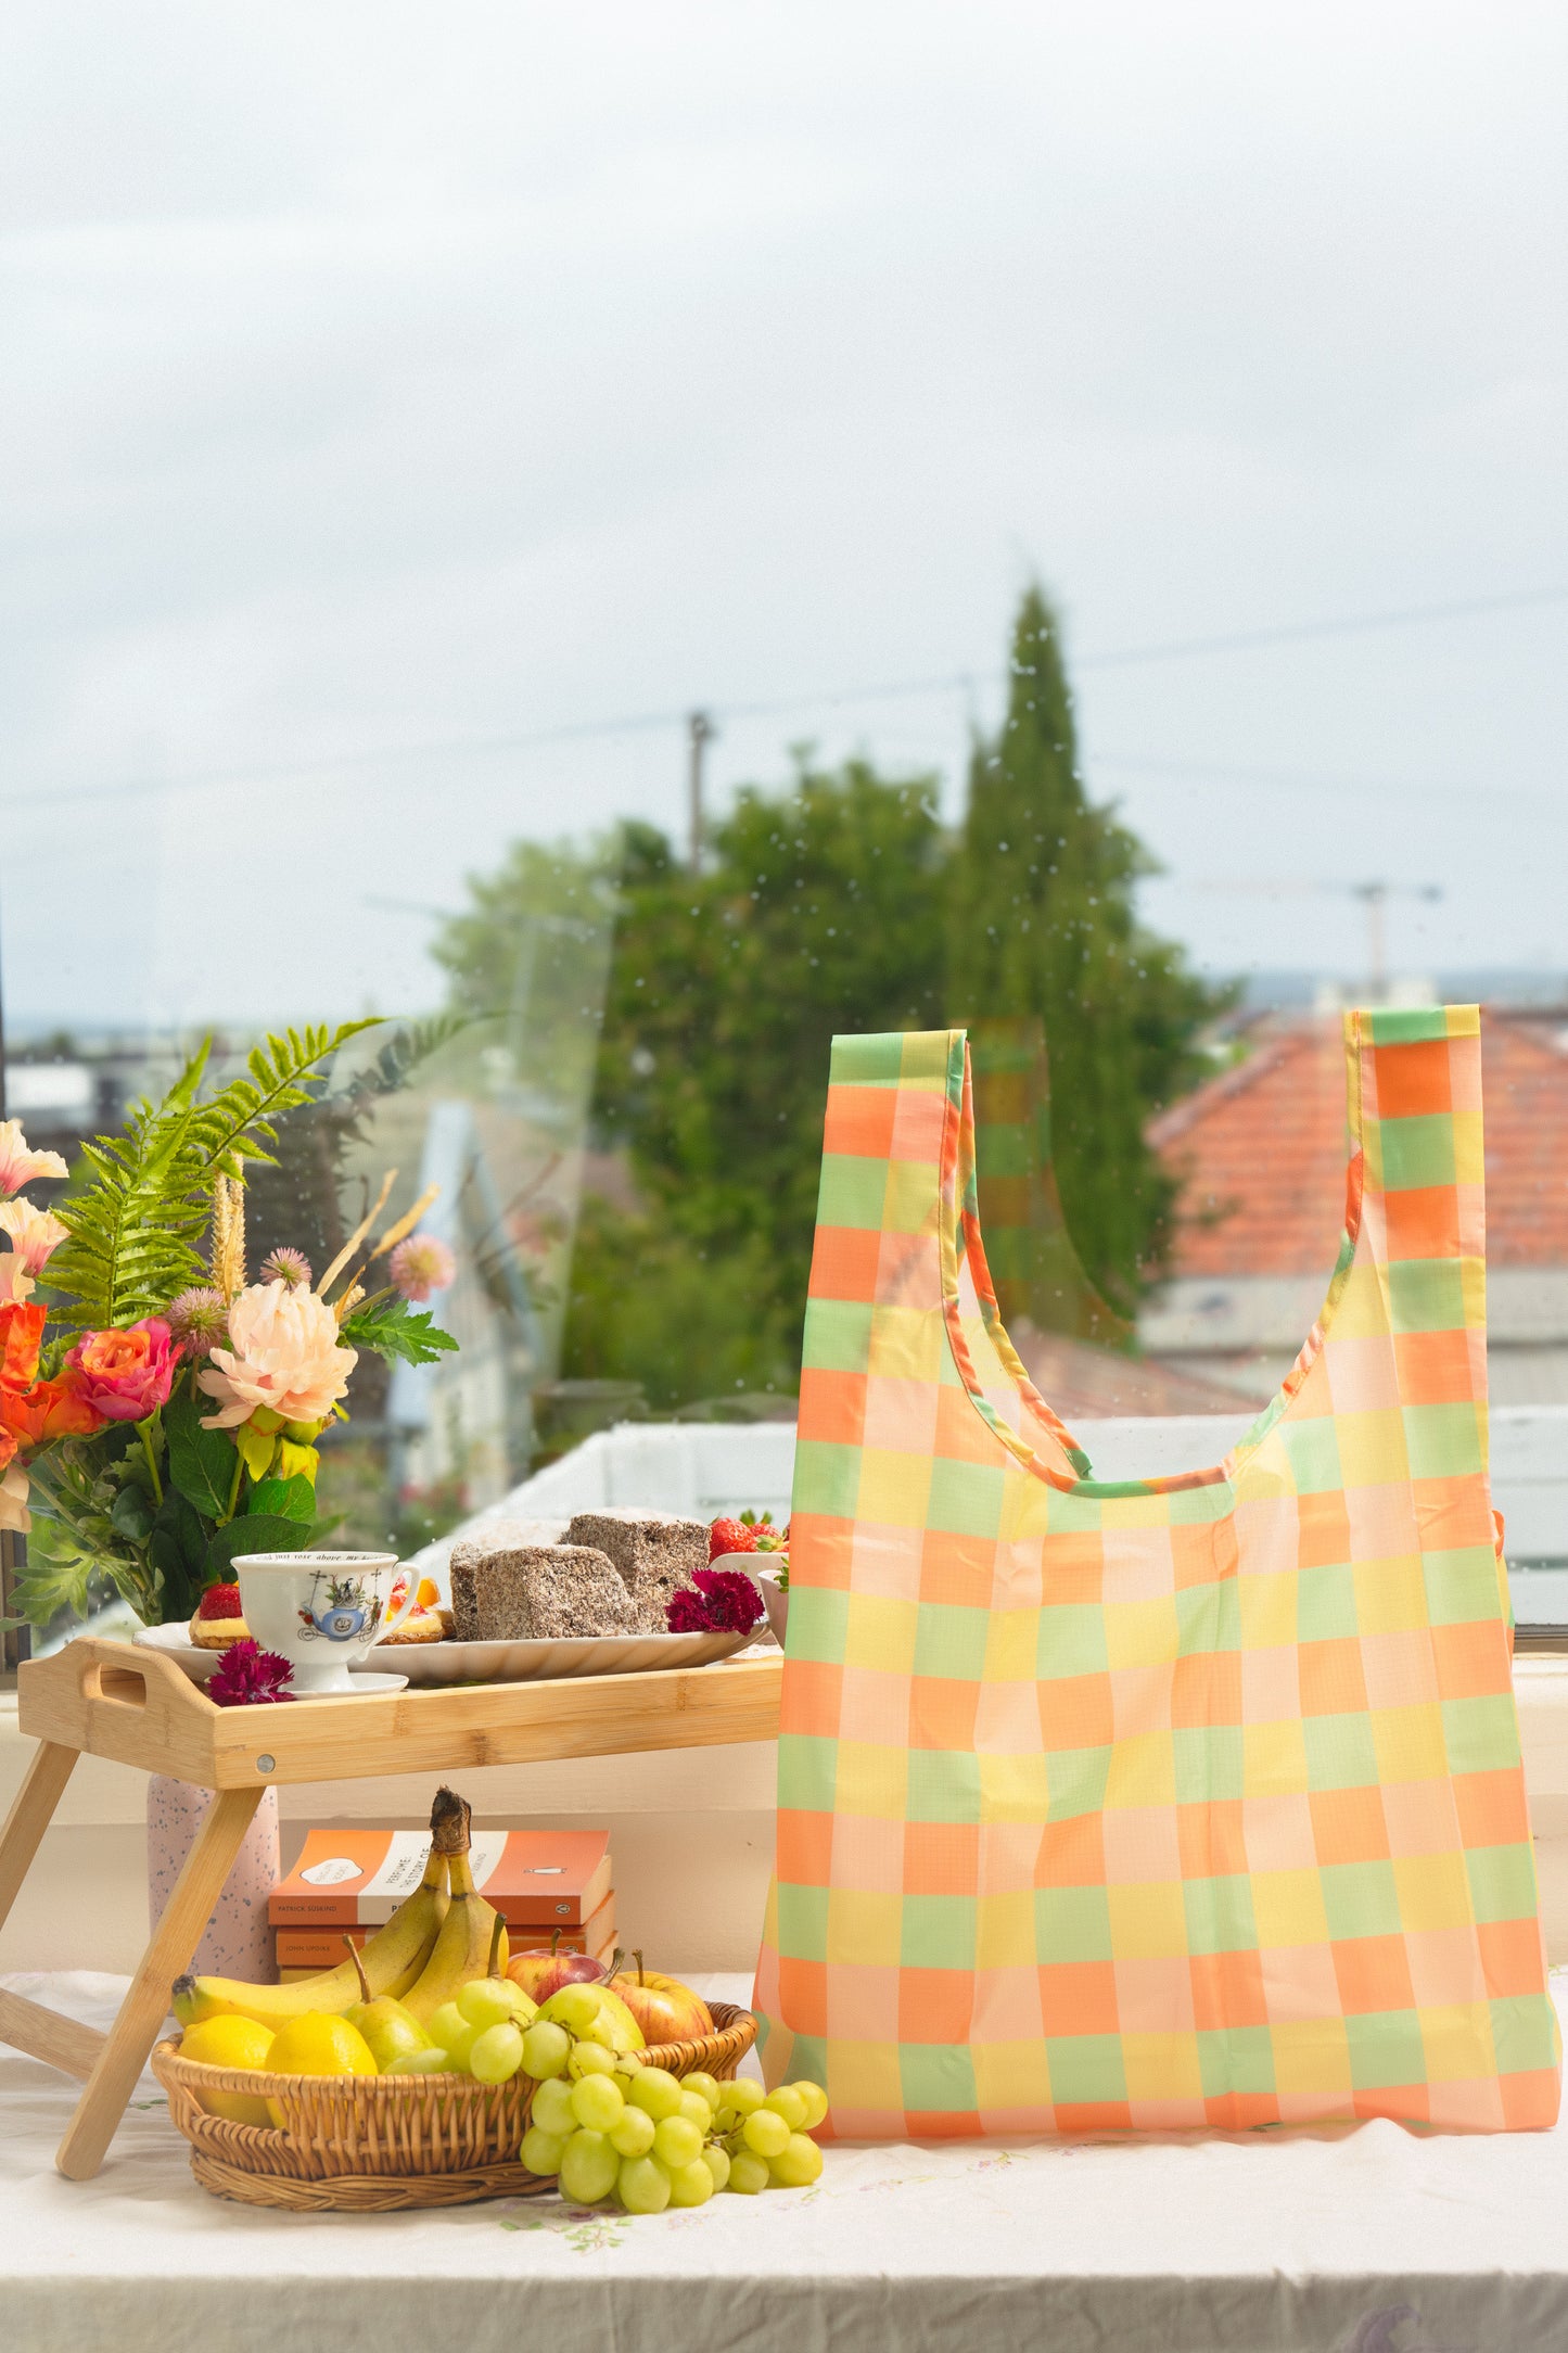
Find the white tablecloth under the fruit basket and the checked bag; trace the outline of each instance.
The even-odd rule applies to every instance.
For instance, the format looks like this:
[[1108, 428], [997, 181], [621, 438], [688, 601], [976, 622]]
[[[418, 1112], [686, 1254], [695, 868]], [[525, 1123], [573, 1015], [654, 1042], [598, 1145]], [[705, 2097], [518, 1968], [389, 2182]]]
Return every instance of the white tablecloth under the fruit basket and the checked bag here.
[[[7, 1984], [106, 2024], [125, 1981]], [[0, 2047], [5, 2353], [1568, 2353], [1568, 2127], [830, 2148], [811, 2191], [686, 2214], [287, 2217], [193, 2184], [150, 2075], [61, 2181], [73, 2099]]]

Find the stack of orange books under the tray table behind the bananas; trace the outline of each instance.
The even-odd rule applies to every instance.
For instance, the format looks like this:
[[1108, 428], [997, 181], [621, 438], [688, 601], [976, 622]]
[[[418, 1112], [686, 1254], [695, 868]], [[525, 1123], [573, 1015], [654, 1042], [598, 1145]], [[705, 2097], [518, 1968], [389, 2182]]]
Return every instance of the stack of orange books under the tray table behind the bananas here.
[[[289, 1984], [343, 1960], [418, 1887], [425, 1831], [308, 1831], [294, 1871], [273, 1887], [277, 1977]], [[616, 1946], [609, 1831], [475, 1831], [475, 1887], [505, 1920], [512, 1953], [550, 1946], [609, 1960]]]

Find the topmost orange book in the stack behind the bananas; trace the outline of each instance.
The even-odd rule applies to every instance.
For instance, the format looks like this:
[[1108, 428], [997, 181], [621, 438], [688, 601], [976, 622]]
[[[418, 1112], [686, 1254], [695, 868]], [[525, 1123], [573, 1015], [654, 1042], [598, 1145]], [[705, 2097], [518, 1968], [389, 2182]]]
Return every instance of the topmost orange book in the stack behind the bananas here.
[[[414, 1894], [423, 1831], [308, 1831], [268, 1899], [273, 1927], [378, 1927]], [[609, 1894], [609, 1831], [475, 1831], [475, 1887], [510, 1927], [581, 1927]]]

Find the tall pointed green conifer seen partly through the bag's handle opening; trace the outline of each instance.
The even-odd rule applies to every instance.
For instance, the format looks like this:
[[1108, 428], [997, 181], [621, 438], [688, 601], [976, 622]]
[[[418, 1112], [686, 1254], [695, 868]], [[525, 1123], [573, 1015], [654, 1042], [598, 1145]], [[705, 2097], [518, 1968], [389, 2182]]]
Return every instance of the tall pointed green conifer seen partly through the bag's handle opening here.
[[1030, 588], [1006, 720], [971, 762], [947, 892], [947, 1007], [952, 1021], [1044, 1016], [1067, 1226], [1119, 1306], [1168, 1247], [1173, 1186], [1145, 1122], [1201, 1075], [1197, 1033], [1225, 1002], [1138, 922], [1133, 892], [1152, 871], [1117, 812], [1084, 793], [1060, 631]]

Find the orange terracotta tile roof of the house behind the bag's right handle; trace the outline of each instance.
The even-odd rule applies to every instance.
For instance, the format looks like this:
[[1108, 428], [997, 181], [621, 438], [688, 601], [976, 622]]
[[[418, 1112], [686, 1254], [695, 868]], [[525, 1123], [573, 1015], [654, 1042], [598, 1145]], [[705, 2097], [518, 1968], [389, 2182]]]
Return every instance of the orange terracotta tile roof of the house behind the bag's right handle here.
[[[1481, 1019], [1490, 1266], [1568, 1266], [1568, 1054], [1554, 1028]], [[1345, 1217], [1338, 1019], [1269, 1031], [1237, 1071], [1161, 1113], [1150, 1141], [1182, 1181], [1171, 1273], [1328, 1268]]]

